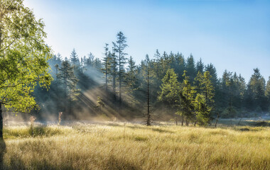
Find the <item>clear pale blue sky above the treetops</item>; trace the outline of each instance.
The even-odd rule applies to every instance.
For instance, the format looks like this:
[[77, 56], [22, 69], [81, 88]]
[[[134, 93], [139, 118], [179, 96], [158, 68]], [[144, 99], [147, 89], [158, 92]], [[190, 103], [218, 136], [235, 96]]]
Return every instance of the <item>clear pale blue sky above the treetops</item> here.
[[249, 81], [258, 67], [270, 76], [270, 1], [252, 0], [25, 0], [43, 18], [55, 54], [102, 58], [122, 31], [136, 64], [156, 49], [182, 52]]

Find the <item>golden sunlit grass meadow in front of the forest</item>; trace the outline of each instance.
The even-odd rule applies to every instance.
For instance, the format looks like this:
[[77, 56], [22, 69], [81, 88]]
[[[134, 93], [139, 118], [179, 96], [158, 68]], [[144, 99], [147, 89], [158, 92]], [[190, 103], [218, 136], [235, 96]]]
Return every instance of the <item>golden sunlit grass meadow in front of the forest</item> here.
[[123, 123], [4, 130], [3, 169], [270, 169], [270, 128]]

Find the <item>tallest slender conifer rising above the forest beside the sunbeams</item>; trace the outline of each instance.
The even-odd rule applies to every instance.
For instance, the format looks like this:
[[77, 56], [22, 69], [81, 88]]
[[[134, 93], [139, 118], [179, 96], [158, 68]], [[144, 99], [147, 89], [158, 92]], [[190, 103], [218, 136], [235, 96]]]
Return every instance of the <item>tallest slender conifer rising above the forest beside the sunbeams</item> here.
[[112, 42], [114, 45], [114, 49], [117, 52], [118, 57], [118, 64], [119, 64], [119, 103], [121, 103], [121, 83], [123, 81], [123, 74], [124, 74], [124, 64], [126, 63], [126, 53], [124, 50], [126, 49], [126, 37], [124, 36], [124, 33], [121, 31], [117, 33], [117, 41]]

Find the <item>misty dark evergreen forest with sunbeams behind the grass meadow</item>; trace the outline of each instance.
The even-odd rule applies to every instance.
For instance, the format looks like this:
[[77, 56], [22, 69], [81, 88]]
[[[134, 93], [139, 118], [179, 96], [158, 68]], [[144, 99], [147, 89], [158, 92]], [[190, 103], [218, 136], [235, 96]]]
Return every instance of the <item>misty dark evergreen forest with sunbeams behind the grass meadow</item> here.
[[247, 81], [228, 70], [217, 77], [213, 64], [195, 61], [191, 54], [156, 50], [135, 64], [126, 47], [119, 32], [115, 42], [104, 45], [102, 60], [92, 53], [79, 57], [74, 49], [69, 59], [54, 55], [49, 60], [53, 81], [48, 90], [35, 89], [40, 108], [33, 113], [44, 120], [58, 112], [65, 120], [178, 118], [187, 125], [269, 113], [270, 77], [266, 82], [259, 68]]

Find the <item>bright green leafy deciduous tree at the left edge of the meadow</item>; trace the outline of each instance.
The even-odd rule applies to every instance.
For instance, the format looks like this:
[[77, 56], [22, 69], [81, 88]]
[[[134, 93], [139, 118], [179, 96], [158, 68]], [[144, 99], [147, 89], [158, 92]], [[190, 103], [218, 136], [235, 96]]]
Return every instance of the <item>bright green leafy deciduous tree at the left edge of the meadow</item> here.
[[0, 3], [0, 139], [3, 108], [29, 112], [36, 106], [31, 95], [37, 84], [48, 87], [51, 50], [45, 44], [44, 23], [21, 0]]

